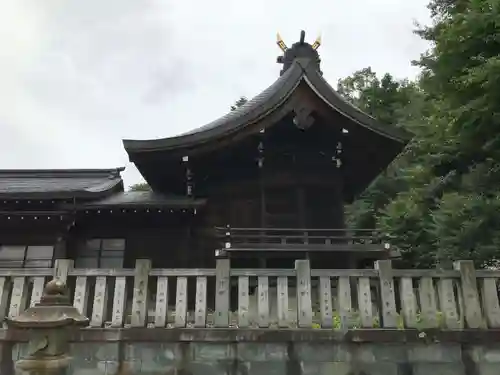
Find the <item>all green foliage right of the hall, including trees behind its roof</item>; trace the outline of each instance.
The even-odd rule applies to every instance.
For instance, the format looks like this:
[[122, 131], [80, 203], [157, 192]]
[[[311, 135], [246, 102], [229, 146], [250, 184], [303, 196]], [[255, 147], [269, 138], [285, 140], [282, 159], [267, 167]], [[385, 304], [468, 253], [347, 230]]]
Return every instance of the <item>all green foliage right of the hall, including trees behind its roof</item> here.
[[433, 0], [431, 49], [417, 82], [370, 70], [339, 91], [416, 137], [350, 207], [351, 224], [375, 225], [414, 267], [500, 258], [500, 2]]

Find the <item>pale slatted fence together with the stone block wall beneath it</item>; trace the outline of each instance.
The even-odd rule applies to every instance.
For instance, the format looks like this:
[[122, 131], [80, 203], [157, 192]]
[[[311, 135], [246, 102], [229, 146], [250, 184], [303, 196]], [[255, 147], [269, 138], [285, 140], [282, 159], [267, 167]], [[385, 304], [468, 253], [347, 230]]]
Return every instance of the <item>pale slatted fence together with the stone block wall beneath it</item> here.
[[0, 375], [496, 375], [499, 277], [470, 261], [0, 270]]

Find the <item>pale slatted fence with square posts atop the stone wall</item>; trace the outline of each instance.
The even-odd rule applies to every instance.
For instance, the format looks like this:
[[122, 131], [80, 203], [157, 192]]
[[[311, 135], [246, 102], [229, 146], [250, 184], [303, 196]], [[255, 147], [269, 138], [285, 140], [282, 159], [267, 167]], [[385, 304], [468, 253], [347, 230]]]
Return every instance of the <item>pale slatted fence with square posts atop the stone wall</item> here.
[[390, 260], [368, 270], [295, 269], [0, 269], [0, 317], [36, 303], [44, 283], [67, 282], [90, 327], [500, 328], [500, 271], [400, 270]]

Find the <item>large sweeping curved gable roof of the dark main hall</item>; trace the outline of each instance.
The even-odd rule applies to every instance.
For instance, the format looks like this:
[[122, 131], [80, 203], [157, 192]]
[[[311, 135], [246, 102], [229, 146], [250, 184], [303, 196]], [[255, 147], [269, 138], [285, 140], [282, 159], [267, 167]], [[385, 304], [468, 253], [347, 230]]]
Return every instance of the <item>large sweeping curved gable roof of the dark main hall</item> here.
[[332, 109], [359, 125], [401, 144], [406, 144], [411, 139], [412, 135], [408, 132], [394, 126], [380, 124], [373, 117], [347, 102], [322, 77], [317, 69], [317, 64], [310, 59], [299, 58], [262, 93], [243, 106], [209, 124], [169, 138], [153, 140], [127, 139], [123, 140], [123, 145], [130, 156], [142, 152], [192, 147], [217, 139], [253, 124], [271, 113], [290, 97], [301, 82], [306, 82], [318, 97]]

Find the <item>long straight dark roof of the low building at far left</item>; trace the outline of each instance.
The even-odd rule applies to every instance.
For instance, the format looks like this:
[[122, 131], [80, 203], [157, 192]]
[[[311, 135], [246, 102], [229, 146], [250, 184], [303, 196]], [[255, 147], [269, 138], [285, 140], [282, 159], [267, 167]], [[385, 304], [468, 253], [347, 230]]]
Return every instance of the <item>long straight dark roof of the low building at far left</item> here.
[[124, 169], [4, 169], [0, 170], [0, 197], [99, 197], [123, 189], [120, 172]]

